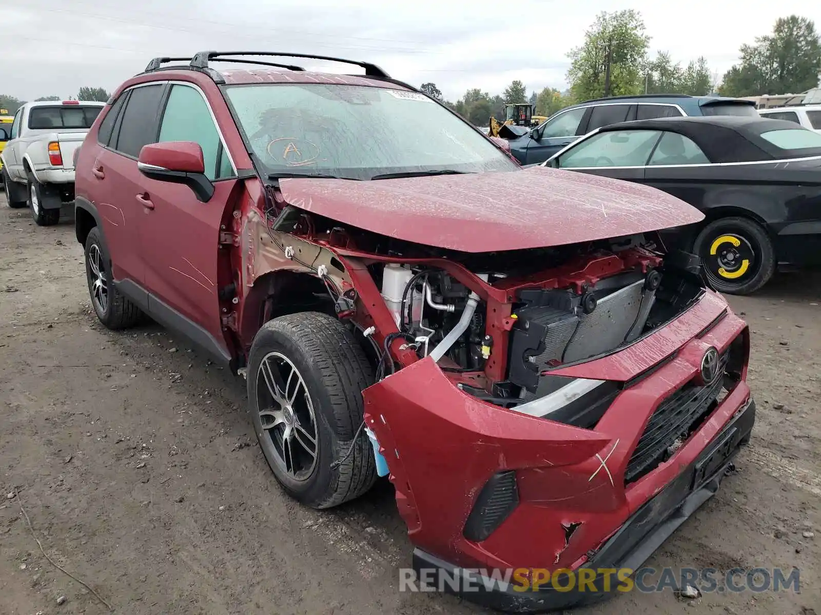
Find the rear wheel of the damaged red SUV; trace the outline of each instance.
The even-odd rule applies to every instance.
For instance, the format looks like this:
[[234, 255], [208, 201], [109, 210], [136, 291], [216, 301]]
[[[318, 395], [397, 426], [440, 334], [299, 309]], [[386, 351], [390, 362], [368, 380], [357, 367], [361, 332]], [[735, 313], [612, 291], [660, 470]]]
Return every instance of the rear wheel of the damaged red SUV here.
[[117, 286], [112, 284], [111, 259], [96, 226], [85, 239], [85, 277], [91, 305], [103, 325], [108, 329], [127, 329], [140, 321], [140, 308], [117, 292]]

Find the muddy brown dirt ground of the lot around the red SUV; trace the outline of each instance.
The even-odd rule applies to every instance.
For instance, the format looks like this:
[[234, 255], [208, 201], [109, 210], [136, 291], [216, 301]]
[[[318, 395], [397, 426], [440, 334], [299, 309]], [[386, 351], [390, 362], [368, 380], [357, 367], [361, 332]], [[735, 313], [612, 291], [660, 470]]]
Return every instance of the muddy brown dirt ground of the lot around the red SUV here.
[[[631, 593], [577, 613], [821, 613], [821, 276], [732, 303], [753, 330], [753, 440], [649, 565], [798, 567], [801, 593]], [[482, 612], [398, 591], [410, 543], [389, 484], [331, 512], [287, 499], [244, 400], [158, 326], [104, 330], [71, 219], [39, 228], [0, 193], [0, 613], [107, 612], [21, 508], [116, 613]]]

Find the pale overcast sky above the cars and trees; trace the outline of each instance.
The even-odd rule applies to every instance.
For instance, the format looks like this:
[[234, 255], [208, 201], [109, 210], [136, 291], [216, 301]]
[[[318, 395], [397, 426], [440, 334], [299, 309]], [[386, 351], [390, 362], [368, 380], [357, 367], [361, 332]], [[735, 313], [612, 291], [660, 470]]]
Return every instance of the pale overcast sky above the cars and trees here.
[[514, 79], [529, 93], [564, 89], [566, 52], [599, 11], [640, 11], [653, 53], [682, 64], [703, 54], [719, 73], [779, 16], [796, 13], [821, 28], [821, 2], [810, 0], [0, 2], [0, 93], [24, 100], [76, 95], [81, 85], [111, 91], [154, 56], [252, 48], [375, 62], [417, 86], [433, 81], [455, 101], [470, 87], [501, 93]]

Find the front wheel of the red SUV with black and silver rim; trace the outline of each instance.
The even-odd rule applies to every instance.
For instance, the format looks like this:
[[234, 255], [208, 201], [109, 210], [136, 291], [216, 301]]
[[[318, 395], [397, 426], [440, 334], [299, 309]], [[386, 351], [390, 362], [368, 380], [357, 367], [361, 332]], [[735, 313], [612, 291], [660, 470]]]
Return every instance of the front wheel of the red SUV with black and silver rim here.
[[[376, 481], [362, 390], [374, 372], [340, 321], [303, 312], [268, 321], [251, 345], [248, 400], [268, 466], [313, 508], [354, 499]], [[350, 453], [350, 454], [349, 454]]]

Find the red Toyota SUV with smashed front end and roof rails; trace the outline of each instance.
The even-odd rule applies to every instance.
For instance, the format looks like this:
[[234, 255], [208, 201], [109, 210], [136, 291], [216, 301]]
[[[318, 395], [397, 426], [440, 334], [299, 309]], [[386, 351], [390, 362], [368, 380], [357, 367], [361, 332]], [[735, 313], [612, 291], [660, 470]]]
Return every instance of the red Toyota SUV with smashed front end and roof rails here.
[[310, 57], [157, 58], [108, 101], [76, 161], [99, 320], [147, 314], [245, 375], [300, 502], [388, 474], [433, 585], [517, 612], [602, 597], [504, 571], [640, 567], [750, 439], [749, 331], [656, 232], [702, 214], [522, 169], [378, 66], [259, 60], [283, 56]]

